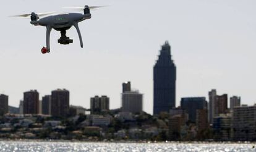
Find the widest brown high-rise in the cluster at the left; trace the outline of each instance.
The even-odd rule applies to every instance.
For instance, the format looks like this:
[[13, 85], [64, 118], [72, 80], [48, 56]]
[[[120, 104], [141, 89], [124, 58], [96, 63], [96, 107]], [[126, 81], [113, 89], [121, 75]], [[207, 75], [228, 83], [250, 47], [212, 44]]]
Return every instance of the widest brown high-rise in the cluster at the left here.
[[51, 91], [51, 116], [66, 117], [69, 114], [69, 91]]

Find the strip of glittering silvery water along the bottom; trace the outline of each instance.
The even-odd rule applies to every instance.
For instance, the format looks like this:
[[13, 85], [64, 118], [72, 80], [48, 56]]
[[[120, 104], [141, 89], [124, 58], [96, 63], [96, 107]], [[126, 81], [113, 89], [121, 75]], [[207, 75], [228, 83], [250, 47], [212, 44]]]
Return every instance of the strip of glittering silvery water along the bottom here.
[[[255, 144], [256, 145], [256, 144]], [[254, 144], [0, 141], [0, 151], [256, 151]]]

